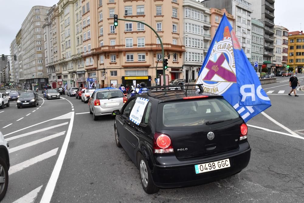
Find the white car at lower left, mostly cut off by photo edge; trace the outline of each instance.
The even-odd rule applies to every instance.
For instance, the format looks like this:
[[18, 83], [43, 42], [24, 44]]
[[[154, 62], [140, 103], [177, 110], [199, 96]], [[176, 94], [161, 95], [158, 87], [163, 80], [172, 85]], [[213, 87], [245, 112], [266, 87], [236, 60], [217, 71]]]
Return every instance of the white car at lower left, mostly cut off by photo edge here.
[[0, 131], [0, 201], [4, 198], [7, 188], [9, 186], [9, 144], [3, 137], [2, 132]]

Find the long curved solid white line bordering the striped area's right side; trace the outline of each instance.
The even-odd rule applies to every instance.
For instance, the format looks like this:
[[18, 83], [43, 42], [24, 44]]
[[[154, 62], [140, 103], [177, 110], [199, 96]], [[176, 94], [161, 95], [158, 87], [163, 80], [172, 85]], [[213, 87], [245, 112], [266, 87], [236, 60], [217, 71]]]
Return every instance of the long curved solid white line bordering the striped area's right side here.
[[69, 124], [69, 128], [67, 129], [67, 135], [65, 136], [63, 145], [61, 147], [60, 154], [59, 154], [57, 162], [54, 166], [54, 170], [52, 172], [50, 180], [47, 183], [47, 186], [44, 190], [40, 203], [47, 203], [47, 202], [51, 201], [51, 198], [53, 196], [53, 192], [54, 192], [54, 189], [55, 189], [58, 177], [59, 177], [59, 173], [60, 173], [63, 161], [64, 161], [64, 156], [67, 153], [67, 146], [70, 142], [73, 123], [74, 123], [74, 112], [71, 112], [71, 121]]

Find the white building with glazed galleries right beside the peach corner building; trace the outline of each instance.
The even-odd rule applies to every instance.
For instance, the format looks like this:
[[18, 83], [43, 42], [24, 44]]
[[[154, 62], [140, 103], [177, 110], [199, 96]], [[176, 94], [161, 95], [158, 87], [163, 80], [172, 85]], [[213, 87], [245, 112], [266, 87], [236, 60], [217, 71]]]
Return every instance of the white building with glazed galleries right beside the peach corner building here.
[[[193, 81], [198, 77], [200, 68], [209, 49], [210, 9], [195, 0], [184, 0], [184, 79]], [[203, 50], [203, 51], [202, 51]]]

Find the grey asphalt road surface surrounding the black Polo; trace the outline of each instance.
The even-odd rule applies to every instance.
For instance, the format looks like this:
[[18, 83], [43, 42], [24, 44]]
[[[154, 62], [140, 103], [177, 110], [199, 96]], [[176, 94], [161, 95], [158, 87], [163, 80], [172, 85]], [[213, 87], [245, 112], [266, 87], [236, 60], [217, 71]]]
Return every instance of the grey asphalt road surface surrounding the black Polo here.
[[36, 108], [11, 103], [0, 110], [0, 130], [16, 150], [10, 152], [2, 202], [304, 202], [304, 92], [288, 96], [289, 78], [277, 81], [263, 86], [272, 106], [247, 123], [252, 147], [247, 168], [220, 181], [153, 195], [143, 191], [138, 169], [116, 147], [113, 117], [93, 121], [88, 104], [66, 95], [44, 103], [39, 98], [43, 105]]

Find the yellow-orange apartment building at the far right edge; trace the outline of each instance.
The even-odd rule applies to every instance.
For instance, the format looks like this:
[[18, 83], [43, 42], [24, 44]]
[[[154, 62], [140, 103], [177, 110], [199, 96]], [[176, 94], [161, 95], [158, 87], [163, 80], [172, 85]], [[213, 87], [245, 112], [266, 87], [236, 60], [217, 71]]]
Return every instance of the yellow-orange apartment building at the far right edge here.
[[304, 66], [304, 33], [300, 31], [288, 32], [288, 65], [294, 72], [301, 72]]

